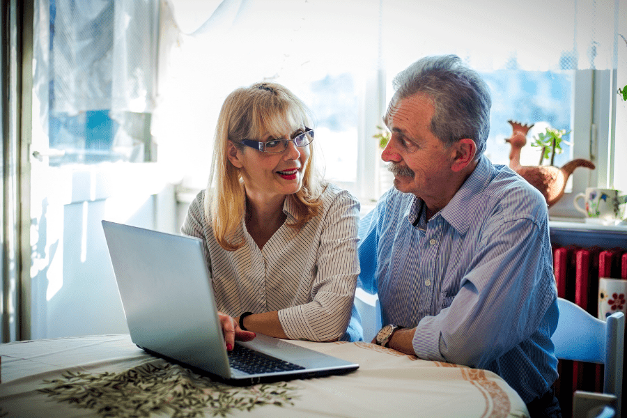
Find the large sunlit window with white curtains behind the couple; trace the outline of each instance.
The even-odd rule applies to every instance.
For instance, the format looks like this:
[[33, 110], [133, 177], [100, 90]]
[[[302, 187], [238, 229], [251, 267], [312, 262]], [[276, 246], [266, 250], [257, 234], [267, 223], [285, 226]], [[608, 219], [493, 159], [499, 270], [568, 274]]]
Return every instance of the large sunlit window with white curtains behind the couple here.
[[[175, 17], [183, 16], [183, 8], [178, 15], [176, 11], [185, 0], [173, 3]], [[169, 88], [191, 87], [189, 95], [175, 93], [182, 102], [165, 104], [168, 111], [161, 112], [170, 115], [178, 108], [180, 116], [172, 119], [182, 123], [160, 124], [159, 132], [184, 137], [189, 148], [201, 150], [183, 157], [196, 167], [186, 169], [185, 183], [191, 187], [206, 183], [212, 132], [224, 97], [237, 86], [270, 79], [291, 88], [316, 114], [316, 145], [325, 155], [327, 178], [353, 192], [362, 206], [371, 205], [391, 185], [373, 139], [393, 93], [390, 81], [420, 56], [447, 53], [477, 69], [493, 92], [486, 150], [493, 162], [509, 164], [504, 139], [511, 135], [511, 119], [534, 123], [531, 135], [547, 125], [569, 132], [557, 166], [577, 157], [594, 160], [594, 172], [573, 173], [568, 185], [573, 193], [587, 185], [610, 184], [615, 177], [616, 144], [607, 123], [612, 110], [603, 114], [600, 109], [612, 100], [616, 65], [607, 40], [616, 40], [619, 29], [608, 31], [604, 22], [625, 13], [617, 2], [454, 1], [428, 8], [400, 0], [233, 3], [233, 10], [221, 5], [211, 20], [196, 25], [199, 29], [181, 34], [178, 62], [172, 63], [176, 75]], [[597, 114], [591, 114], [593, 108]], [[522, 162], [538, 164], [539, 150], [530, 144], [525, 148]], [[568, 196], [552, 212], [578, 216]]]

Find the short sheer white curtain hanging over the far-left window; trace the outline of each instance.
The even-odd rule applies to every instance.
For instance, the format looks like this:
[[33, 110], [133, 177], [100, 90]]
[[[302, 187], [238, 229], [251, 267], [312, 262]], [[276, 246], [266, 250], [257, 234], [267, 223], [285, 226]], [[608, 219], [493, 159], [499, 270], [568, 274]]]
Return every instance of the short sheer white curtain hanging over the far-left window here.
[[[147, 112], [154, 107], [157, 17], [155, 0], [39, 0], [54, 6], [49, 61], [50, 110]], [[47, 8], [38, 8], [47, 11]], [[41, 27], [40, 31], [45, 31]], [[42, 48], [45, 49], [45, 48]], [[48, 52], [44, 52], [48, 54]], [[51, 68], [46, 68], [47, 64]], [[42, 79], [46, 79], [45, 74]]]

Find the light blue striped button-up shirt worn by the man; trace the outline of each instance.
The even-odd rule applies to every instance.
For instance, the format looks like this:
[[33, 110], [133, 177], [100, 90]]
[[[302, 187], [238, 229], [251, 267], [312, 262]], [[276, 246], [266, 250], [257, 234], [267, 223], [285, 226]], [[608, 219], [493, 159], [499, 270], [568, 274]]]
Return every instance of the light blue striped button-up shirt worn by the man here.
[[359, 225], [359, 284], [382, 321], [417, 327], [418, 357], [488, 369], [525, 403], [557, 379], [557, 291], [543, 196], [481, 157], [431, 219], [390, 189]]

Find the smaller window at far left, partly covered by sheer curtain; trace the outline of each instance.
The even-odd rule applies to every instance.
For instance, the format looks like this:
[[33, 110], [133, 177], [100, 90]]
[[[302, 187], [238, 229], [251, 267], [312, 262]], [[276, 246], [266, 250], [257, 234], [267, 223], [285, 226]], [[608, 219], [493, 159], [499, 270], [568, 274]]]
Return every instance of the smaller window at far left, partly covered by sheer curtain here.
[[35, 147], [36, 157], [51, 167], [155, 160], [157, 3], [37, 4], [34, 82], [49, 140]]

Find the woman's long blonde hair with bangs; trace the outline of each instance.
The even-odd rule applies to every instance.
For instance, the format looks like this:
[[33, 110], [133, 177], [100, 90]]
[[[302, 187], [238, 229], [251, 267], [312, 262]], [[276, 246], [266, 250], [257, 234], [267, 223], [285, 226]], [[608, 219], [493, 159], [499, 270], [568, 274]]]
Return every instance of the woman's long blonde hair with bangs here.
[[[311, 127], [311, 113], [288, 88], [276, 83], [261, 82], [233, 91], [224, 100], [215, 129], [211, 173], [205, 191], [204, 212], [213, 226], [215, 238], [227, 251], [244, 245], [235, 231], [246, 215], [245, 185], [239, 169], [227, 157], [228, 141], [240, 149], [242, 139], [260, 140], [262, 135], [283, 137], [304, 127]], [[322, 204], [323, 181], [314, 164], [314, 149], [309, 144], [309, 160], [305, 164], [302, 187], [287, 199], [295, 203], [295, 222], [288, 224], [296, 231], [318, 214]], [[247, 152], [252, 151], [246, 150]], [[256, 152], [256, 151], [252, 151]]]

